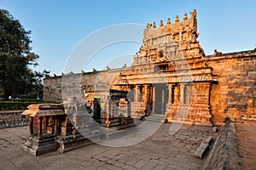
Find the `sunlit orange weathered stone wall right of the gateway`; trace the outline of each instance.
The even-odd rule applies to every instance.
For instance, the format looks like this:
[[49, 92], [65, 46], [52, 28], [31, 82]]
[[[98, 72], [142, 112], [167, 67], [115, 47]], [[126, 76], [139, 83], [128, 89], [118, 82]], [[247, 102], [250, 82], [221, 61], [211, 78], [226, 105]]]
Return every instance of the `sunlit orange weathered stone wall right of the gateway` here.
[[212, 121], [223, 123], [225, 117], [255, 115], [256, 50], [208, 56], [201, 66], [206, 64], [218, 80], [212, 84], [210, 97]]

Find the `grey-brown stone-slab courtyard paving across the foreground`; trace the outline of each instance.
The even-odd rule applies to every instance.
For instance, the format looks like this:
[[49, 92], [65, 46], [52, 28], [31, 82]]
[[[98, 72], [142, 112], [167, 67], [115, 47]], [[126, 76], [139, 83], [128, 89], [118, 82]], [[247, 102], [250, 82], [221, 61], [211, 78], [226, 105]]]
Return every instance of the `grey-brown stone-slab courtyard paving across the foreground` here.
[[[91, 144], [64, 154], [31, 156], [20, 150], [28, 127], [0, 129], [0, 169], [199, 169], [204, 159], [193, 156], [212, 127], [183, 125], [171, 135], [172, 123], [143, 142], [126, 147]], [[215, 133], [217, 135], [217, 133]]]

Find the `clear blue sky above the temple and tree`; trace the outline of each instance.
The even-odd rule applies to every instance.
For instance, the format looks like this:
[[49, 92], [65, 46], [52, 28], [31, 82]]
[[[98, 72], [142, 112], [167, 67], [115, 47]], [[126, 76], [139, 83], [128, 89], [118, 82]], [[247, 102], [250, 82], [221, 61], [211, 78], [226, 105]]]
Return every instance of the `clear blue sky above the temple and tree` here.
[[[251, 50], [256, 48], [255, 7], [254, 0], [0, 0], [0, 8], [9, 10], [26, 31], [32, 31], [32, 51], [39, 55], [39, 65], [33, 69], [45, 69], [50, 75], [67, 73], [69, 59], [79, 44], [90, 40], [83, 47], [84, 51], [90, 50], [91, 44], [96, 46], [103, 41], [93, 36], [100, 35], [109, 26], [132, 23], [146, 28], [147, 23], [154, 21], [166, 23], [169, 17], [174, 21], [176, 15], [182, 19], [184, 13], [190, 16], [194, 8], [200, 33], [198, 40], [207, 55], [213, 54], [214, 49], [222, 53]], [[119, 31], [131, 29], [122, 27]], [[105, 33], [102, 38], [111, 39], [115, 35], [119, 32]], [[136, 39], [143, 40], [143, 30]], [[109, 43], [98, 48], [94, 57], [86, 61], [82, 59], [85, 54], [81, 54], [76, 62], [86, 63], [74, 66], [73, 72], [103, 70], [107, 65], [122, 67], [124, 63], [129, 66], [141, 41]]]

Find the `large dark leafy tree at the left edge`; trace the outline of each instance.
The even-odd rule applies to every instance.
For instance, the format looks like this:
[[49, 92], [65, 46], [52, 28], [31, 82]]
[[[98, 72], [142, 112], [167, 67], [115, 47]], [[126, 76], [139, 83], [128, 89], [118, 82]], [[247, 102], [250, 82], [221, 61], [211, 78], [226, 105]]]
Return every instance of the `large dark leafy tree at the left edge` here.
[[4, 99], [34, 88], [39, 72], [31, 67], [38, 65], [39, 56], [32, 53], [30, 34], [9, 11], [0, 9], [0, 88]]

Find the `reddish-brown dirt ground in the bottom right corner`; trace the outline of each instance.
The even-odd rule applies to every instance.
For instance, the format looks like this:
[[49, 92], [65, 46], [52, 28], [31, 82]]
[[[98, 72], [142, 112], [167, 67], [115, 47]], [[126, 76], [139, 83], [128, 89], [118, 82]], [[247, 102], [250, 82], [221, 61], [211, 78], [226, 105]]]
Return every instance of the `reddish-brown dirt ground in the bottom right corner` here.
[[245, 169], [256, 170], [256, 121], [236, 123], [236, 138]]

